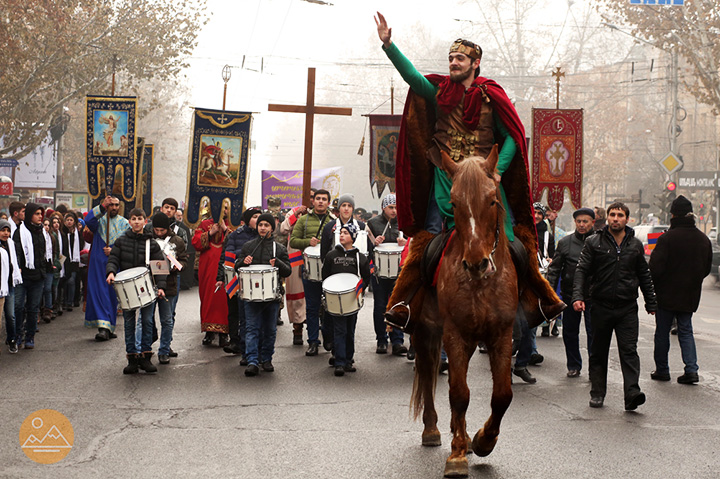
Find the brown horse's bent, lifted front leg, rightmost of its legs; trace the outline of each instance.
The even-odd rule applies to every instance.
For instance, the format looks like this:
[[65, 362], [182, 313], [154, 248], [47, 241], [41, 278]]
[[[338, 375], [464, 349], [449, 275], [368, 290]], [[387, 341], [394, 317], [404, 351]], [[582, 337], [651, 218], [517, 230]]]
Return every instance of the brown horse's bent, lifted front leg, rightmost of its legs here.
[[493, 393], [490, 401], [490, 417], [473, 438], [472, 448], [478, 456], [487, 456], [495, 448], [500, 421], [512, 401], [510, 363], [512, 361], [512, 326], [505, 328], [495, 341], [486, 343], [490, 370], [493, 377]]

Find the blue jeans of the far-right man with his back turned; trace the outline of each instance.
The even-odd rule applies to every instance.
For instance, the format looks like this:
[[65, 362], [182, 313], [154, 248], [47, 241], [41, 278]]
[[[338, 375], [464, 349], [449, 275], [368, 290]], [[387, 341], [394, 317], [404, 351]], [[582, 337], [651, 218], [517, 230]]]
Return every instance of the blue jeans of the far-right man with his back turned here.
[[692, 330], [692, 313], [669, 311], [658, 307], [655, 313], [655, 370], [658, 373], [670, 374], [668, 352], [670, 351], [670, 328], [673, 319], [677, 318], [678, 342], [686, 373], [697, 373], [697, 351]]

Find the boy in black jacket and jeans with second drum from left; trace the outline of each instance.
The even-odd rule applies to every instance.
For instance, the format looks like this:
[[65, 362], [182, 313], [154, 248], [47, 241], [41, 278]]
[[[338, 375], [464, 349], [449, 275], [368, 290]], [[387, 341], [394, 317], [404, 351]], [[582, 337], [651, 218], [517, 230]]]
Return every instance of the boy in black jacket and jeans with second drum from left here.
[[[269, 265], [277, 268], [282, 278], [292, 273], [287, 248], [273, 238], [275, 217], [263, 213], [257, 219], [258, 238], [245, 243], [240, 250], [236, 268], [251, 264]], [[242, 274], [242, 272], [241, 272]], [[280, 281], [276, 282], [280, 284]], [[272, 357], [275, 353], [277, 317], [281, 297], [272, 301], [243, 301], [245, 306], [245, 359], [248, 362], [245, 376], [256, 376], [262, 366], [263, 371], [273, 372]]]

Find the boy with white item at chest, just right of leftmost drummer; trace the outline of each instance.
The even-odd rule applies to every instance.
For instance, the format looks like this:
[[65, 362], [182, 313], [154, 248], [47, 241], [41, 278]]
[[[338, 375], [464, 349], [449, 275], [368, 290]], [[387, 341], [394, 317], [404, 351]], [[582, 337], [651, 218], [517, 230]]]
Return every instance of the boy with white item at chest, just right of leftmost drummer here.
[[[160, 246], [163, 254], [169, 259], [170, 257], [177, 260], [180, 269], [187, 266], [187, 250], [185, 242], [176, 235], [171, 227], [171, 220], [168, 216], [160, 211], [152, 218], [153, 237]], [[160, 347], [158, 348], [158, 361], [160, 364], [168, 364], [170, 362], [170, 343], [172, 342], [172, 331], [174, 326], [173, 319], [173, 299], [179, 293], [178, 275], [180, 269], [170, 261], [170, 274], [167, 276], [167, 289], [165, 289], [165, 297], [167, 301], [156, 301], [153, 303], [153, 318], [155, 317], [155, 308], [160, 311]]]

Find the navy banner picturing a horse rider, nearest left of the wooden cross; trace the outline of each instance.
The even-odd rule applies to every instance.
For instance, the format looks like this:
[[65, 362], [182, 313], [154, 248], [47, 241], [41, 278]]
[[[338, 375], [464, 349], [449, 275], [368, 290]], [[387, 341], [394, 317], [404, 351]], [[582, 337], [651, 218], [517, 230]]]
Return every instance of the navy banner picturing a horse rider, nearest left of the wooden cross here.
[[215, 221], [227, 218], [233, 227], [240, 224], [251, 126], [249, 112], [195, 109], [185, 202], [185, 223], [191, 228], [200, 223], [205, 208]]

